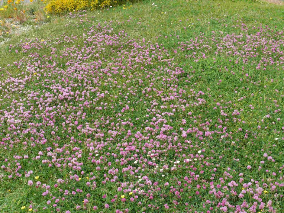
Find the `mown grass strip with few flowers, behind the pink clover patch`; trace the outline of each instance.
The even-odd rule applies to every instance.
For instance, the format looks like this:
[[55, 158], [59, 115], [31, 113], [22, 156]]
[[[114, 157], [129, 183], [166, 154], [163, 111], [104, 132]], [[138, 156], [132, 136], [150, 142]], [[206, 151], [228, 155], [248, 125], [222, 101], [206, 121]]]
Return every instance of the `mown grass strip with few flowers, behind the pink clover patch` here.
[[[151, 41], [157, 41], [164, 44], [163, 37], [169, 34], [177, 34], [180, 40], [187, 40], [197, 35], [199, 32], [205, 35], [211, 34], [211, 31], [222, 31], [224, 34], [239, 33], [240, 29], [230, 27], [235, 24], [236, 20], [243, 20], [250, 29], [251, 27], [262, 23], [270, 27], [277, 26], [278, 29], [283, 28], [283, 7], [274, 4], [260, 4], [255, 1], [157, 1], [154, 2], [157, 7], [152, 6], [148, 1], [136, 2], [131, 9], [123, 10], [123, 6], [118, 6], [109, 11], [93, 11], [88, 12], [90, 16], [94, 16], [96, 22], [104, 21], [124, 21], [129, 18], [134, 21], [127, 24], [117, 25], [117, 30], [124, 29], [133, 38], [145, 38]], [[131, 4], [129, 3], [128, 6]], [[211, 18], [223, 20], [221, 23], [212, 21]], [[191, 25], [188, 30], [184, 31], [182, 27], [184, 23], [179, 20], [186, 21]], [[74, 20], [69, 20], [73, 22]], [[137, 25], [137, 22], [141, 24]], [[208, 24], [210, 22], [210, 24]], [[72, 24], [63, 27], [66, 22], [64, 17], [52, 17], [51, 23], [35, 29], [28, 33], [14, 37], [9, 44], [17, 44], [20, 40], [28, 38], [46, 39], [54, 38], [62, 33], [79, 35], [81, 29], [74, 29]], [[229, 27], [225, 28], [224, 24]], [[187, 24], [186, 24], [187, 25]], [[123, 27], [122, 27], [123, 26]], [[71, 30], [72, 29], [72, 30]], [[253, 33], [253, 31], [252, 31]], [[157, 38], [157, 36], [162, 37]], [[166, 48], [172, 48], [177, 43], [176, 39], [170, 39], [165, 44]], [[21, 54], [7, 54], [8, 45], [4, 44], [0, 50], [0, 66], [6, 66], [22, 56]]]

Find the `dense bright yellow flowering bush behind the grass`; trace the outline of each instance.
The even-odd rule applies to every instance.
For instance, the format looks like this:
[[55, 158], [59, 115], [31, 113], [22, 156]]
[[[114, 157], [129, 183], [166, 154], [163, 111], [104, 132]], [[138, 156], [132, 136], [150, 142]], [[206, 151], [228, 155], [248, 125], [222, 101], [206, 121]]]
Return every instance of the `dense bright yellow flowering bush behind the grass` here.
[[81, 9], [104, 8], [117, 4], [114, 0], [46, 0], [46, 11], [49, 13], [70, 12]]

